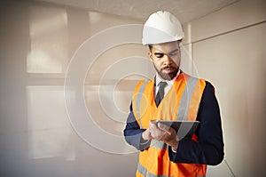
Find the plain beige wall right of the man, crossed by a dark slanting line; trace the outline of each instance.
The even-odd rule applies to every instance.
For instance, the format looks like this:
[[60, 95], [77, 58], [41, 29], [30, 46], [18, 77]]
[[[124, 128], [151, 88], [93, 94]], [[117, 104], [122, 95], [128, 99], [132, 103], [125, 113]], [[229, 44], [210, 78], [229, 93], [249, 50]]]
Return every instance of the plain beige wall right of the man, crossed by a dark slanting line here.
[[198, 75], [215, 85], [223, 118], [225, 160], [208, 176], [265, 176], [265, 8], [263, 0], [242, 0], [185, 26]]

